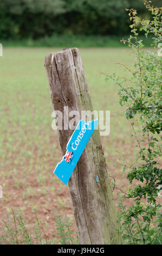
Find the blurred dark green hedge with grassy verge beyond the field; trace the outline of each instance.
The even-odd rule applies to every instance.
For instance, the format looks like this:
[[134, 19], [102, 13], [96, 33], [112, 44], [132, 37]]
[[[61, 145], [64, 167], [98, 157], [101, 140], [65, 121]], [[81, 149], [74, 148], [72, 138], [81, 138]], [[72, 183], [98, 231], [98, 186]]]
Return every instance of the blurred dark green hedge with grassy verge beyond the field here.
[[[159, 0], [152, 3], [160, 5]], [[29, 46], [113, 46], [130, 32], [126, 8], [150, 18], [142, 0], [1, 1], [0, 40]]]

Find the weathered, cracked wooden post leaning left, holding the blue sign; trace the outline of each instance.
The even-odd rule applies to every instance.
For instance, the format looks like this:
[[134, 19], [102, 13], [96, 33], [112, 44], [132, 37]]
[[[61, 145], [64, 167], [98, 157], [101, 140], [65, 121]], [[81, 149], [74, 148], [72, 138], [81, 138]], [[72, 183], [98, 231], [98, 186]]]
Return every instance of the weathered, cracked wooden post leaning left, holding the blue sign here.
[[[45, 57], [51, 100], [54, 110], [93, 111], [79, 50], [63, 49]], [[57, 130], [62, 154], [72, 130]], [[96, 176], [99, 181], [96, 182]], [[120, 237], [109, 186], [99, 130], [90, 138], [68, 182], [75, 221], [81, 244], [119, 244]]]

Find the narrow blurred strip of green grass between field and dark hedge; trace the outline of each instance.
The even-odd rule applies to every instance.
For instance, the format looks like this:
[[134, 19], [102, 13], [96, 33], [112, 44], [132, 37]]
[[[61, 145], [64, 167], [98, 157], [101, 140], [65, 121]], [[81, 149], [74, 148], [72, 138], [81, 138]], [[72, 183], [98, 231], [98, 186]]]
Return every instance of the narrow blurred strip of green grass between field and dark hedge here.
[[[127, 39], [127, 35], [57, 35], [44, 36], [40, 39], [8, 39], [1, 40], [4, 47], [121, 47], [120, 39]], [[152, 36], [148, 35], [148, 39], [143, 35], [139, 35], [139, 40], [143, 40], [145, 46], [152, 44]], [[125, 45], [126, 46], [126, 45]], [[125, 47], [124, 46], [124, 47]]]

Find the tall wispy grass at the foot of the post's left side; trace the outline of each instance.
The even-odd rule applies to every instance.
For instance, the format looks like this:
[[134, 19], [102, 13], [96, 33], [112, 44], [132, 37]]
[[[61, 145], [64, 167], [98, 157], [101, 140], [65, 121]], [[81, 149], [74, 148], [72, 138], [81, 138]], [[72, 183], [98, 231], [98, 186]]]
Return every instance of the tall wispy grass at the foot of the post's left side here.
[[72, 226], [72, 222], [66, 216], [61, 218], [57, 212], [54, 212], [55, 215], [55, 225], [57, 233], [60, 240], [57, 242], [55, 239], [49, 240], [46, 235], [44, 228], [42, 226], [42, 222], [38, 220], [37, 215], [35, 215], [34, 222], [34, 232], [31, 233], [27, 227], [27, 223], [24, 220], [22, 210], [10, 209], [12, 212], [12, 216], [9, 215], [7, 220], [2, 222], [4, 223], [3, 235], [0, 236], [0, 245], [1, 244], [41, 244], [41, 245], [55, 245], [55, 244], [63, 244], [63, 245], [74, 245], [78, 244], [79, 240], [74, 239], [73, 231], [70, 230]]

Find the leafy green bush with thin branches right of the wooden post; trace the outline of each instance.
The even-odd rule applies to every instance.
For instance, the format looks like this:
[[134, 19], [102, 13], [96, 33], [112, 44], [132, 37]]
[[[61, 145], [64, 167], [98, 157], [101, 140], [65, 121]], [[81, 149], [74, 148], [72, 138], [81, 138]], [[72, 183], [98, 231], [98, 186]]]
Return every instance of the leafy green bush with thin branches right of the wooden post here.
[[[132, 21], [132, 35], [121, 41], [131, 48], [128, 53], [133, 57], [134, 64], [133, 67], [118, 64], [129, 71], [129, 77], [106, 75], [106, 81], [112, 79], [120, 87], [119, 103], [126, 109], [125, 115], [131, 123], [132, 136], [137, 142], [137, 160], [127, 174], [128, 181], [133, 185], [128, 189], [127, 197], [133, 198], [134, 202], [126, 209], [124, 196], [119, 204], [123, 240], [135, 244], [162, 243], [160, 205], [157, 203], [162, 184], [162, 169], [158, 162], [161, 155], [162, 62], [157, 51], [162, 42], [162, 8], [154, 8], [150, 3], [144, 0], [146, 8], [152, 14], [151, 20], [141, 20], [136, 10], [128, 10]], [[146, 37], [149, 33], [153, 35], [154, 51], [142, 50], [144, 44], [138, 39], [137, 31], [139, 24]], [[138, 181], [138, 185], [133, 184], [134, 181]]]

